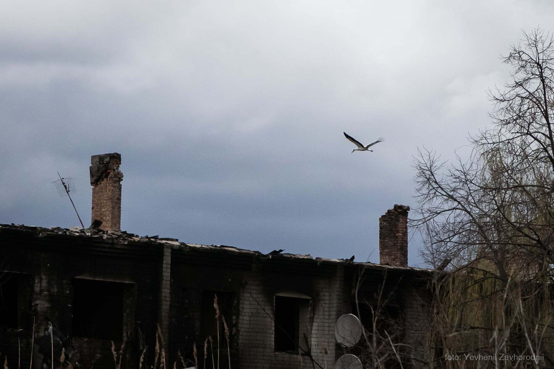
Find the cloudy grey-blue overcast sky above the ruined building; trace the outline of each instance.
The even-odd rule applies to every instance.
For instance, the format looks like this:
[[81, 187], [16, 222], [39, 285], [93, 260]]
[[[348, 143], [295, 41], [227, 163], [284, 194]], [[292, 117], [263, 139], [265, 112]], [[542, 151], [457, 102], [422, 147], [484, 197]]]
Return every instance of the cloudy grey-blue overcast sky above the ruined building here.
[[[452, 158], [550, 1], [17, 1], [0, 22], [0, 223], [79, 225], [50, 182], [118, 152], [121, 228], [378, 261], [416, 206], [417, 147]], [[346, 131], [375, 152], [351, 153]], [[418, 264], [418, 237], [409, 263]]]

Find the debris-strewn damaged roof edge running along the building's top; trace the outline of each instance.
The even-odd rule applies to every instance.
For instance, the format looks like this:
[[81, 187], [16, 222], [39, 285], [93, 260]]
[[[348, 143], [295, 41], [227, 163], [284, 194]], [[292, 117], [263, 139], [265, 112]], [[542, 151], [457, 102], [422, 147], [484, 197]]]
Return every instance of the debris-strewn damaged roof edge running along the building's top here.
[[421, 272], [432, 272], [434, 269], [426, 268], [417, 268], [417, 267], [399, 267], [391, 266], [387, 264], [376, 264], [371, 262], [354, 262], [349, 261], [348, 259], [329, 259], [321, 257], [312, 257], [310, 254], [292, 254], [292, 253], [268, 253], [264, 254], [260, 251], [247, 250], [244, 248], [238, 248], [233, 246], [225, 245], [199, 245], [197, 243], [186, 243], [179, 242], [177, 238], [168, 238], [168, 237], [158, 237], [158, 236], [139, 236], [134, 233], [129, 233], [126, 231], [102, 231], [95, 230], [93, 228], [81, 228], [81, 227], [71, 227], [71, 228], [61, 228], [61, 227], [38, 227], [38, 226], [25, 226], [19, 224], [0, 224], [0, 232], [2, 230], [13, 230], [13, 231], [25, 231], [25, 232], [34, 232], [38, 237], [48, 237], [56, 235], [66, 235], [73, 237], [82, 237], [82, 238], [93, 238], [95, 240], [102, 240], [105, 242], [112, 243], [127, 243], [127, 242], [144, 242], [147, 245], [169, 245], [172, 248], [181, 249], [181, 250], [219, 250], [227, 251], [237, 254], [252, 254], [253, 256], [259, 256], [261, 258], [269, 259], [295, 259], [295, 260], [311, 260], [319, 263], [334, 263], [334, 264], [348, 264], [348, 265], [358, 265], [365, 266], [376, 269], [395, 269], [395, 270], [406, 270], [406, 271], [421, 271]]

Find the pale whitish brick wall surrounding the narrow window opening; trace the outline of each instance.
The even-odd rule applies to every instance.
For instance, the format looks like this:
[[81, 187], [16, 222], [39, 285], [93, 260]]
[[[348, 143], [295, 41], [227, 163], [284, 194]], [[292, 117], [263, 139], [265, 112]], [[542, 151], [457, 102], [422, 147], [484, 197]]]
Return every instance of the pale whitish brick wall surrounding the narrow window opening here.
[[[330, 277], [294, 276], [296, 285], [311, 286], [311, 354], [325, 367], [335, 363], [334, 326], [342, 298], [338, 271]], [[286, 277], [281, 276], [286, 280]], [[309, 357], [284, 352], [274, 352], [274, 293], [275, 285], [258, 270], [247, 276], [248, 284], [240, 291], [239, 355], [241, 369], [263, 368], [312, 368]], [[294, 289], [295, 284], [285, 283]], [[301, 291], [300, 291], [301, 292]], [[303, 337], [299, 340], [304, 342]], [[305, 346], [305, 345], [301, 345]], [[326, 347], [328, 354], [324, 354]], [[300, 363], [301, 361], [301, 363]]]

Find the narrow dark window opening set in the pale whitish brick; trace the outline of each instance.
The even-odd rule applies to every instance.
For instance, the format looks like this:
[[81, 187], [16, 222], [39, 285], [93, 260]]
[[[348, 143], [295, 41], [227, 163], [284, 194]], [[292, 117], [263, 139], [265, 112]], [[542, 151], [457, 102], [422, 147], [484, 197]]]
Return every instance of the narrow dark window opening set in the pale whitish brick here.
[[300, 300], [275, 296], [275, 351], [298, 352]]

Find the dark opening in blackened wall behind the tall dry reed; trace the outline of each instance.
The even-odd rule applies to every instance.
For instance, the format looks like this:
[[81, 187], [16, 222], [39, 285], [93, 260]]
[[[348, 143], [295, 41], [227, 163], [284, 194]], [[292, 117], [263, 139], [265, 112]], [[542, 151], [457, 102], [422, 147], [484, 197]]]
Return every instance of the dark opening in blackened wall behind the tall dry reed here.
[[[216, 308], [214, 307], [215, 295], [217, 295], [217, 305], [219, 307], [219, 321], [216, 319]], [[204, 341], [208, 336], [212, 336], [215, 342], [219, 331], [219, 347], [227, 350], [227, 338], [225, 337], [225, 328], [222, 319], [222, 316], [224, 316], [225, 323], [227, 323], [229, 329], [229, 346], [230, 349], [233, 350], [236, 331], [236, 305], [237, 302], [233, 292], [203, 290], [200, 340]]]

